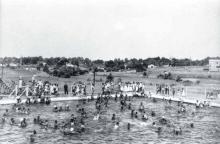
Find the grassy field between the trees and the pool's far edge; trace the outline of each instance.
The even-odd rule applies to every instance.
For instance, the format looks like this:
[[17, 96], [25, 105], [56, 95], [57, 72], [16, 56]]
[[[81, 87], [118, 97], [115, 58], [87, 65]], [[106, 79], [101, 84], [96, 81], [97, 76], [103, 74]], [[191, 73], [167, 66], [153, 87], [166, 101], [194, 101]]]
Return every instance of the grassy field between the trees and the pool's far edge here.
[[[1, 69], [0, 69], [1, 71]], [[183, 82], [176, 82], [175, 80], [164, 80], [158, 79], [157, 75], [163, 73], [164, 71], [171, 72], [175, 78], [177, 75], [183, 80], [190, 80], [192, 83], [188, 86], [184, 86]], [[148, 77], [144, 77], [143, 73], [136, 72], [112, 72], [114, 76], [114, 81], [117, 82], [120, 78], [124, 82], [140, 81], [145, 84], [145, 88], [148, 91], [155, 92], [156, 84], [175, 84], [177, 87], [185, 87], [187, 89], [187, 97], [189, 98], [205, 98], [205, 91], [220, 89], [220, 73], [219, 72], [208, 72], [203, 71], [203, 67], [166, 67], [166, 68], [155, 68], [149, 69], [147, 71]], [[18, 82], [19, 76], [22, 76], [24, 81], [28, 83], [31, 80], [33, 74], [37, 75], [37, 79], [43, 81], [47, 80], [52, 83], [58, 83], [59, 89], [63, 91], [63, 85], [67, 83], [69, 87], [73, 82], [82, 81], [87, 84], [87, 92], [90, 93], [90, 82], [93, 80], [93, 74], [89, 73], [81, 76], [74, 76], [71, 78], [57, 78], [49, 76], [44, 72], [39, 71], [27, 71], [24, 69], [4, 69], [4, 80], [13, 80]], [[101, 83], [105, 81], [106, 75], [109, 73], [98, 72], [96, 74], [96, 87], [95, 92], [100, 93]], [[100, 79], [102, 81], [100, 81]], [[196, 83], [199, 81], [199, 83]], [[220, 98], [217, 101], [220, 102]]]

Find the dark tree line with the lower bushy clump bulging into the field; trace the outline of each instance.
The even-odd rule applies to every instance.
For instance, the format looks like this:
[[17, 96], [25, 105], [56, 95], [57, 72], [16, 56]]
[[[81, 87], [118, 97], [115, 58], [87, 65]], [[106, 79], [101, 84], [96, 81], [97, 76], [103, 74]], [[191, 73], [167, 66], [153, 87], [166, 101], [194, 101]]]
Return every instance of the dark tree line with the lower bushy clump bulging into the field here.
[[[219, 57], [216, 57], [219, 58]], [[153, 64], [155, 66], [204, 66], [209, 62], [210, 57], [201, 60], [191, 60], [188, 58], [177, 59], [177, 58], [165, 58], [165, 57], [154, 57], [146, 59], [114, 59], [114, 60], [91, 60], [89, 58], [83, 57], [51, 57], [43, 58], [39, 57], [5, 57], [0, 58], [1, 63], [17, 63], [21, 65], [34, 65], [37, 69], [42, 69], [43, 71], [53, 74], [59, 77], [69, 77], [77, 74], [84, 74], [87, 72], [85, 69], [82, 70], [81, 67], [88, 69], [88, 71], [96, 69], [96, 71], [121, 71], [132, 69], [137, 72], [145, 71], [149, 65]], [[66, 64], [72, 64], [75, 67], [69, 68]]]

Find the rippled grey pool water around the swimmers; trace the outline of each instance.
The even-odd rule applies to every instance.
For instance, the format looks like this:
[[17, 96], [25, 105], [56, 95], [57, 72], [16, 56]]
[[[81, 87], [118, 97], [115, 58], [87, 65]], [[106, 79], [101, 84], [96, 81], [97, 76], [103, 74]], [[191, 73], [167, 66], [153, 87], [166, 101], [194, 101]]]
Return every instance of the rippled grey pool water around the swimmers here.
[[[132, 107], [138, 109], [140, 102], [143, 102], [149, 120], [142, 121], [139, 118], [131, 118], [131, 111], [126, 109], [120, 111], [120, 102], [110, 100], [108, 108], [102, 109], [99, 120], [93, 120], [95, 110], [95, 102], [87, 102], [83, 105], [88, 118], [85, 120], [86, 131], [76, 135], [63, 135], [60, 130], [52, 128], [44, 129], [39, 125], [33, 124], [33, 119], [40, 114], [41, 118], [49, 119], [51, 125], [54, 120], [58, 123], [69, 119], [71, 114], [77, 115], [76, 105], [78, 101], [69, 102], [53, 102], [51, 105], [32, 105], [28, 106], [31, 110], [29, 115], [17, 114], [12, 110], [10, 105], [2, 105], [0, 115], [9, 109], [9, 116], [6, 122], [0, 124], [0, 143], [9, 144], [25, 144], [30, 143], [30, 135], [33, 130], [37, 131], [35, 136], [36, 144], [68, 144], [68, 143], [125, 143], [125, 144], [142, 144], [142, 143], [219, 143], [220, 142], [220, 111], [217, 108], [195, 109], [195, 106], [186, 105], [186, 113], [178, 113], [177, 103], [169, 104], [165, 101], [154, 103], [148, 98], [132, 98]], [[68, 104], [71, 111], [69, 112], [53, 112], [53, 106], [65, 106]], [[151, 111], [156, 112], [156, 116], [150, 115]], [[192, 112], [195, 112], [193, 115]], [[119, 129], [114, 130], [114, 124], [111, 122], [112, 114], [115, 113], [120, 121]], [[159, 124], [159, 119], [164, 116], [169, 120], [171, 125]], [[9, 119], [13, 117], [16, 121], [26, 117], [28, 126], [20, 128], [9, 124]], [[156, 127], [152, 125], [156, 122]], [[131, 124], [131, 129], [127, 130], [127, 123]], [[190, 123], [194, 123], [194, 128], [190, 127]], [[162, 127], [162, 132], [156, 132], [157, 127]], [[182, 134], [174, 135], [174, 127], [181, 127]]]

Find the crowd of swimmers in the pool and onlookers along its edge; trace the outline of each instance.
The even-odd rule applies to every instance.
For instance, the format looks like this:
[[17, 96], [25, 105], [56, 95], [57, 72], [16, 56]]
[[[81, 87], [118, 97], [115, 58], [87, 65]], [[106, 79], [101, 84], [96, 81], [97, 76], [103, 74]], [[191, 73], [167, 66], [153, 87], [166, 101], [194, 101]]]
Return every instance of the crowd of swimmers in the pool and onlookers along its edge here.
[[[50, 97], [42, 97], [44, 95], [53, 95], [58, 93], [58, 85], [57, 84], [50, 84], [49, 82], [42, 82], [34, 81], [35, 86], [35, 94], [40, 99], [41, 103], [50, 104], [51, 100]], [[36, 125], [41, 126], [44, 129], [55, 129], [60, 130], [64, 135], [72, 135], [72, 134], [81, 134], [85, 132], [88, 127], [86, 121], [88, 121], [89, 118], [91, 118], [91, 113], [86, 109], [86, 105], [89, 102], [94, 102], [94, 109], [95, 112], [92, 114], [92, 120], [98, 121], [102, 118], [103, 111], [108, 111], [109, 109], [112, 109], [109, 105], [110, 102], [114, 103], [115, 105], [119, 105], [119, 111], [121, 114], [123, 114], [125, 111], [130, 112], [129, 119], [131, 120], [137, 120], [141, 122], [148, 122], [150, 119], [153, 119], [151, 125], [155, 128], [155, 132], [158, 134], [161, 134], [163, 132], [163, 127], [167, 126], [169, 129], [173, 129], [174, 135], [181, 135], [182, 134], [182, 127], [176, 126], [171, 123], [171, 120], [169, 118], [165, 118], [164, 116], [157, 116], [157, 113], [154, 110], [149, 110], [147, 105], [145, 105], [143, 102], [140, 102], [139, 106], [135, 106], [135, 100], [132, 96], [128, 96], [124, 92], [144, 92], [144, 84], [142, 82], [126, 82], [126, 83], [119, 83], [119, 92], [115, 95], [106, 94], [106, 92], [111, 92], [111, 89], [114, 87], [113, 83], [103, 83], [102, 84], [102, 93], [98, 95], [97, 99], [91, 99], [88, 100], [79, 100], [79, 103], [76, 105], [76, 109], [70, 109], [69, 105], [65, 106], [57, 106], [54, 105], [52, 111], [53, 112], [69, 112], [75, 111], [77, 114], [70, 114], [67, 119], [59, 121], [58, 119], [51, 120], [50, 118], [44, 119], [41, 118], [41, 115], [38, 115], [33, 119], [33, 123]], [[91, 85], [91, 89], [94, 89], [94, 85]], [[84, 83], [74, 83], [71, 86], [72, 93], [74, 95], [77, 94], [84, 94], [86, 95], [86, 84]], [[157, 85], [157, 93], [169, 95], [171, 88], [168, 85], [161, 86]], [[68, 94], [68, 85], [64, 85], [64, 92], [65, 94]], [[173, 93], [173, 92], [172, 92]], [[36, 100], [37, 101], [37, 100]], [[35, 99], [27, 99], [26, 105], [35, 103]], [[157, 103], [157, 100], [155, 98], [152, 98], [153, 103]], [[168, 100], [168, 105], [171, 105], [171, 100]], [[195, 107], [201, 108], [208, 106], [208, 104], [201, 104], [197, 101]], [[186, 113], [187, 108], [186, 105], [184, 105], [183, 102], [177, 103], [177, 113]], [[30, 107], [31, 108], [31, 107]], [[22, 114], [30, 114], [31, 110], [30, 108], [27, 108], [25, 104], [15, 104], [12, 108], [13, 111], [16, 113], [22, 113]], [[121, 114], [112, 113], [111, 118], [106, 119], [106, 121], [110, 121], [112, 127], [111, 129], [117, 130], [121, 127]], [[192, 113], [195, 114], [195, 113]], [[158, 118], [155, 118], [155, 117]], [[25, 128], [29, 123], [27, 122], [26, 118], [22, 118], [20, 121], [16, 120], [11, 116], [9, 110], [6, 109], [5, 113], [2, 116], [1, 123], [5, 123], [6, 119], [9, 118], [9, 123], [11, 125], [19, 126], [21, 128]], [[130, 122], [127, 122], [126, 127], [127, 130], [132, 129], [132, 125]], [[189, 125], [191, 128], [194, 127], [193, 123], [190, 123]], [[103, 131], [103, 129], [100, 129], [100, 131]], [[30, 135], [30, 141], [34, 142], [35, 135], [37, 135], [37, 131], [33, 130], [32, 134]]]

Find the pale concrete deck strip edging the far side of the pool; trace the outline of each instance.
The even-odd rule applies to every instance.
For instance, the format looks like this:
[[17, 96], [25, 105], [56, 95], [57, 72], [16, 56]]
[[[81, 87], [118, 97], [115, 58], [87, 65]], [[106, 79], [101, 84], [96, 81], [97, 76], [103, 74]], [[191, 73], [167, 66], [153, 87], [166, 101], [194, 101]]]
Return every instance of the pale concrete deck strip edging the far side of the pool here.
[[[129, 93], [126, 93], [127, 96], [133, 96], [134, 93], [132, 92], [129, 92]], [[140, 93], [136, 93], [137, 95], [140, 96]], [[165, 100], [171, 100], [171, 101], [182, 101], [183, 103], [188, 103], [188, 104], [195, 104], [196, 103], [196, 100], [197, 99], [189, 99], [187, 97], [173, 97], [173, 96], [163, 96], [163, 95], [158, 95], [158, 94], [155, 94], [155, 93], [149, 93], [146, 94], [147, 97], [151, 97], [151, 98], [157, 98], [157, 99], [165, 99]], [[94, 95], [93, 98], [96, 99], [98, 96], [97, 95]], [[115, 94], [112, 94], [111, 97], [115, 97]], [[74, 101], [74, 100], [80, 100], [80, 99], [90, 99], [91, 96], [65, 96], [65, 97], [51, 97], [51, 101], [52, 102], [59, 102], [59, 101]], [[201, 98], [198, 98], [198, 100], [200, 102], [208, 102], [209, 105], [211, 107], [218, 107], [220, 108], [220, 100], [217, 99], [217, 100], [209, 100], [209, 99], [201, 99]], [[25, 99], [22, 99], [21, 103], [25, 103]], [[15, 98], [3, 98], [0, 100], [0, 105], [8, 105], [8, 104], [16, 104], [16, 99]]]

